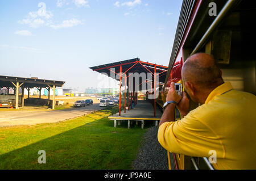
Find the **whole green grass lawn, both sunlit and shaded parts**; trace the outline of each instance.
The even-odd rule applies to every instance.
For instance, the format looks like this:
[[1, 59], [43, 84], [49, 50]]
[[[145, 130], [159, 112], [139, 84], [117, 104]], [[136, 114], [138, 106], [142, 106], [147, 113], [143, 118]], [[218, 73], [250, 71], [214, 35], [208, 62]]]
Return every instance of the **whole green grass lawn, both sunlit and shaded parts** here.
[[[146, 129], [113, 127], [118, 108], [62, 123], [0, 128], [0, 169], [133, 169]], [[46, 151], [46, 164], [38, 151]]]

